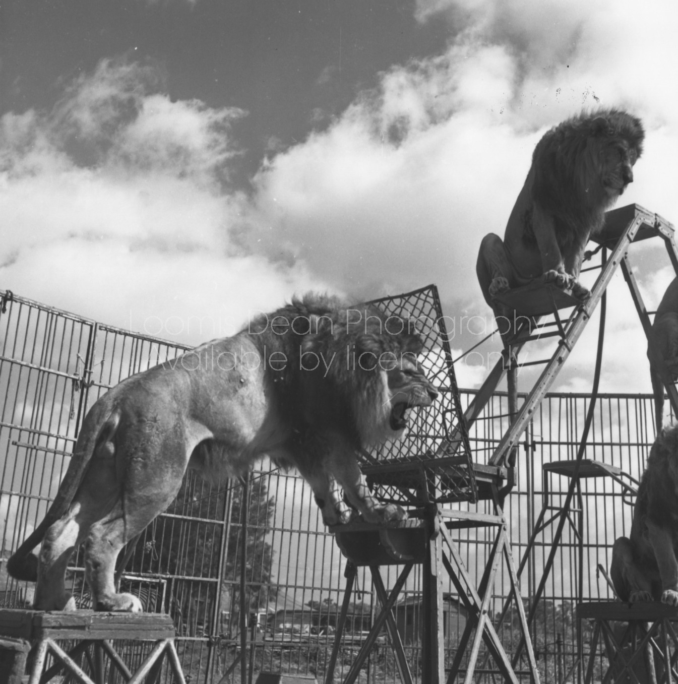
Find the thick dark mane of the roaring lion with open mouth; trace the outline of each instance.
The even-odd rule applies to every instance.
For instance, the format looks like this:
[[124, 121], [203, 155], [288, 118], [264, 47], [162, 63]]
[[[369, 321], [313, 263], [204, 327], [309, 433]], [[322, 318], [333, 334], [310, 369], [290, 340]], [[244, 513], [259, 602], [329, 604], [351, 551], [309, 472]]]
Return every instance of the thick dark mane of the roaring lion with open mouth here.
[[315, 293], [258, 317], [248, 329], [263, 358], [282, 358], [277, 352], [289, 360], [274, 392], [300, 440], [313, 425], [314, 432], [321, 428], [350, 438], [356, 449], [383, 439], [374, 432], [390, 411], [380, 359], [414, 358], [421, 350], [407, 319]]

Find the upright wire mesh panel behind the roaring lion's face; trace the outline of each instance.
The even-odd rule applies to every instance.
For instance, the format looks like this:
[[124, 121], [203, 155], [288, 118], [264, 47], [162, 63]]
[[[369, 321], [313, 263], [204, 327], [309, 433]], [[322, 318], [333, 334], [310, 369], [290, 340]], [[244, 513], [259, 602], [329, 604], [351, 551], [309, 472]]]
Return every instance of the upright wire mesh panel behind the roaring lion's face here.
[[417, 505], [478, 499], [469, 435], [454, 374], [449, 335], [438, 289], [372, 300], [385, 315], [400, 316], [419, 331], [419, 359], [439, 397], [414, 408], [402, 440], [363, 451], [363, 472], [374, 495], [389, 503]]

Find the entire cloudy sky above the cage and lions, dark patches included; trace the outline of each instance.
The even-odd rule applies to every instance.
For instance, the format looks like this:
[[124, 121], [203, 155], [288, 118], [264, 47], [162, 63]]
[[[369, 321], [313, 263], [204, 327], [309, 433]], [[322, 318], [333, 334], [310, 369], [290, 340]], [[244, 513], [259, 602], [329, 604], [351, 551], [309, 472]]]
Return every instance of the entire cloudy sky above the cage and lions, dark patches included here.
[[[0, 289], [198, 343], [308, 289], [435, 282], [466, 350], [478, 245], [553, 124], [642, 117], [620, 204], [678, 220], [677, 34], [675, 0], [3, 0]], [[653, 306], [672, 276], [640, 251]], [[648, 391], [621, 277], [610, 301], [603, 389]]]

